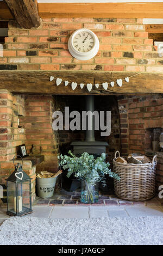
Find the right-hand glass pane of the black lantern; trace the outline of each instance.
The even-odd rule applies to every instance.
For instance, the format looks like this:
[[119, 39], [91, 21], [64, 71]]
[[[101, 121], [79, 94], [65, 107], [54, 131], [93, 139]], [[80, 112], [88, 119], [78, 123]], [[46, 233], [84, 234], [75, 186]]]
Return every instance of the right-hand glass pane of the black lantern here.
[[30, 182], [25, 181], [22, 184], [19, 184], [21, 190], [22, 190], [22, 207], [23, 210], [27, 210], [30, 208]]

